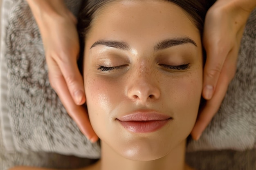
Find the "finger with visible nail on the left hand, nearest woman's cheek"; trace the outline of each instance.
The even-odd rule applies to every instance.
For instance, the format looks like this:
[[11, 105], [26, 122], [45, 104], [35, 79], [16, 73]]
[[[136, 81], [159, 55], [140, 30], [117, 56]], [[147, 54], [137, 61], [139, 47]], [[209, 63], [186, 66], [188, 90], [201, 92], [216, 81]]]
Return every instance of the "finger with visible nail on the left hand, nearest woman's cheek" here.
[[[64, 55], [64, 54], [63, 54]], [[77, 105], [85, 103], [85, 91], [83, 86], [83, 78], [79, 72], [76, 63], [76, 57], [63, 56], [61, 60], [56, 60], [61, 73], [65, 79], [68, 90]]]

